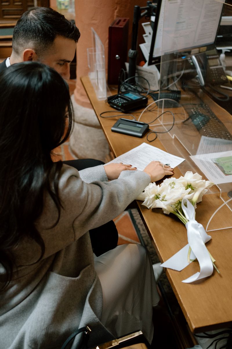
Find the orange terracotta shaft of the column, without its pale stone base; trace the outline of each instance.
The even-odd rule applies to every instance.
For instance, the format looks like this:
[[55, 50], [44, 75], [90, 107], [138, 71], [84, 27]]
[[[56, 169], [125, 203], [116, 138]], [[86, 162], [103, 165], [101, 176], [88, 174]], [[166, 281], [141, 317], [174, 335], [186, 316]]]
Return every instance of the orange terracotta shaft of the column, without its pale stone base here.
[[[129, 49], [135, 5], [146, 6], [146, 0], [75, 0], [75, 24], [81, 32], [81, 37], [77, 44], [77, 82], [74, 91], [75, 102], [79, 105], [91, 108], [80, 81], [80, 77], [87, 75], [89, 70], [87, 65], [87, 48], [92, 46], [91, 27], [97, 32], [104, 45], [107, 69], [109, 26], [117, 17], [130, 18]], [[142, 21], [139, 23], [139, 31], [144, 34], [141, 25]]]

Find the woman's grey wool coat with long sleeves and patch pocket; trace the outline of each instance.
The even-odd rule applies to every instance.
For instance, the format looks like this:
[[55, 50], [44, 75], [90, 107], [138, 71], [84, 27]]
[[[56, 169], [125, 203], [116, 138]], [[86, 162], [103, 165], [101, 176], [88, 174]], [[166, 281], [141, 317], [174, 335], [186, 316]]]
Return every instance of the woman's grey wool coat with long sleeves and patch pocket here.
[[[43, 258], [38, 261], [40, 248], [29, 238], [14, 251], [18, 270], [0, 293], [0, 349], [61, 348], [86, 325], [93, 330], [90, 346], [112, 339], [101, 324], [102, 288], [88, 230], [116, 217], [149, 183], [149, 175], [141, 171], [123, 171], [108, 182], [103, 165], [80, 172], [63, 165], [60, 220], [51, 228], [57, 209], [45, 194], [36, 223], [46, 246]], [[79, 340], [77, 336], [72, 348]]]

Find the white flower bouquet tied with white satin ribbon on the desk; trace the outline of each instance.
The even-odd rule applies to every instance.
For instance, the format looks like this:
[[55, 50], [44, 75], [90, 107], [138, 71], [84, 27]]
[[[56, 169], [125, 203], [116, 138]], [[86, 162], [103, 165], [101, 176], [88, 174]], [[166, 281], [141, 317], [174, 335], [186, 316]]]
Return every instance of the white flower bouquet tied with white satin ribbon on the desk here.
[[[184, 177], [167, 178], [161, 185], [150, 183], [137, 198], [137, 200], [143, 200], [142, 205], [147, 208], [162, 208], [164, 213], [176, 215], [185, 224], [189, 244], [162, 264], [164, 267], [182, 270], [191, 261], [197, 259], [200, 264], [200, 273], [194, 274], [183, 282], [193, 282], [209, 276], [213, 273], [213, 267], [219, 273], [215, 259], [205, 246], [211, 236], [207, 235], [203, 226], [195, 221], [197, 203], [202, 200], [207, 188], [213, 185], [214, 183], [208, 180], [202, 180], [202, 176], [198, 173], [193, 174], [188, 171]], [[180, 258], [183, 259], [182, 265], [179, 263]]]

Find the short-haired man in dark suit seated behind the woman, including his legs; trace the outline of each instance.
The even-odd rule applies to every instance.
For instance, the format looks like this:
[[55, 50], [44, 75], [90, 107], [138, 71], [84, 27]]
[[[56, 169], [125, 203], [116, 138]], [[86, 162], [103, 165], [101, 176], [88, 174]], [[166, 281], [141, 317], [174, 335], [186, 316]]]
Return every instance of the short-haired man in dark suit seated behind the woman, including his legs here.
[[[47, 7], [34, 7], [17, 21], [12, 39], [12, 54], [0, 64], [0, 75], [12, 64], [40, 61], [54, 68], [64, 79], [70, 78], [80, 31], [62, 14]], [[78, 171], [103, 164], [95, 159], [64, 161]], [[117, 246], [118, 231], [113, 221], [90, 230], [94, 253], [98, 256]]]

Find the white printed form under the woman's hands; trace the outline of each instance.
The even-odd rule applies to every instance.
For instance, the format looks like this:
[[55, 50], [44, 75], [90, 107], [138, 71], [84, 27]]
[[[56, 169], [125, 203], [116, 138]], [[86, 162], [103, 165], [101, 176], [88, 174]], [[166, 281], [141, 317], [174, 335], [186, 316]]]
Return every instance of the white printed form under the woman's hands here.
[[112, 161], [108, 162], [108, 164], [119, 164], [122, 162], [123, 164], [132, 165], [133, 167], [137, 167], [138, 170], [143, 171], [145, 167], [154, 160], [160, 161], [163, 164], [168, 164], [171, 166], [171, 168], [174, 168], [181, 164], [185, 159], [166, 153], [166, 151], [153, 147], [150, 144], [142, 143], [140, 146], [116, 157]]

